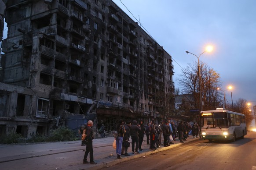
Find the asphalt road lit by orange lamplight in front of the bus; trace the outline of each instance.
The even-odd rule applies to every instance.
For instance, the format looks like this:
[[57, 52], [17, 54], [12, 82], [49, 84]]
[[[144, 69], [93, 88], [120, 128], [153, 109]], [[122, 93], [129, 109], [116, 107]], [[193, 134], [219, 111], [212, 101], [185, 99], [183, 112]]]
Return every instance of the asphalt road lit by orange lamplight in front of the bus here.
[[235, 142], [199, 140], [103, 170], [256, 170], [256, 132]]

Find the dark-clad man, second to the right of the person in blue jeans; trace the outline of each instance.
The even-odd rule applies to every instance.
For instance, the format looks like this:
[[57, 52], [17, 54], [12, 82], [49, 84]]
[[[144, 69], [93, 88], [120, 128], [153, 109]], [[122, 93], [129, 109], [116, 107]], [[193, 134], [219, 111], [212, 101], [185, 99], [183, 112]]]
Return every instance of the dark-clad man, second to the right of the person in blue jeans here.
[[[130, 127], [130, 132], [131, 132], [131, 138], [132, 138], [132, 153], [139, 154], [138, 148], [139, 148], [139, 131], [140, 131], [140, 125], [137, 125], [137, 121], [133, 120], [132, 121], [132, 126]], [[135, 150], [134, 150], [134, 145]]]

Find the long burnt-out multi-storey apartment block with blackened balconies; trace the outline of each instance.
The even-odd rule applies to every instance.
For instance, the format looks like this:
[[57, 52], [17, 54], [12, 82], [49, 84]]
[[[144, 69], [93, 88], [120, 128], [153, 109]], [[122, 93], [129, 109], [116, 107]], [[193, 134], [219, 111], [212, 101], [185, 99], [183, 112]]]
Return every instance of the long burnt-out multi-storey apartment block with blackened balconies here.
[[[46, 135], [93, 120], [164, 120], [171, 56], [112, 0], [8, 0], [0, 133]], [[160, 31], [160, 30], [159, 30]]]

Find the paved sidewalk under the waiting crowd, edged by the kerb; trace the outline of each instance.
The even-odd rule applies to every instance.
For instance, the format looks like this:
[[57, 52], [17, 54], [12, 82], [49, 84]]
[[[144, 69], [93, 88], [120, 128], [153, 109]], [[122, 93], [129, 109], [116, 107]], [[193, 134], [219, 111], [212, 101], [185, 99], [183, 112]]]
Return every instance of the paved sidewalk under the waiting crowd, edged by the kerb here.
[[[94, 160], [96, 165], [83, 164], [83, 156], [85, 151], [85, 146], [81, 146], [81, 141], [69, 141], [69, 142], [50, 142], [50, 143], [40, 143], [40, 144], [23, 144], [23, 145], [0, 145], [0, 163], [53, 155], [56, 153], [66, 153], [69, 156], [72, 155], [77, 159], [77, 163], [67, 163], [69, 166], [64, 166], [62, 170], [98, 170], [106, 166], [115, 165], [127, 160], [136, 159], [139, 157], [147, 156], [155, 152], [161, 152], [167, 149], [177, 147], [179, 145], [184, 145], [188, 142], [193, 142], [199, 138], [192, 138], [191, 136], [187, 138], [187, 141], [180, 143], [179, 140], [174, 141], [173, 145], [168, 147], [160, 147], [154, 151], [149, 149], [149, 145], [146, 145], [146, 135], [144, 136], [144, 141], [142, 144], [143, 151], [139, 151], [140, 154], [132, 154], [132, 145], [128, 148], [128, 154], [131, 156], [122, 156], [122, 159], [117, 159], [117, 154], [115, 149], [113, 149], [112, 144], [114, 138], [112, 136], [106, 138], [97, 138], [93, 140], [94, 148]], [[130, 141], [131, 142], [131, 138]], [[162, 138], [163, 143], [163, 138]], [[83, 152], [81, 152], [83, 151]], [[78, 154], [77, 154], [78, 153]], [[89, 156], [88, 156], [89, 159]]]

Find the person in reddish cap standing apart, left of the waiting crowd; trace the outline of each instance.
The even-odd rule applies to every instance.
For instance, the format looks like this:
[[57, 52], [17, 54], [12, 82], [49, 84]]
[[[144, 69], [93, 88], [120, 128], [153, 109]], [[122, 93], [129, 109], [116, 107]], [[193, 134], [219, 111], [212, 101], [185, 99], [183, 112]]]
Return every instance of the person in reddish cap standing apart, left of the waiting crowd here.
[[88, 156], [88, 153], [90, 153], [90, 164], [97, 164], [94, 162], [93, 160], [93, 147], [92, 147], [92, 140], [94, 139], [94, 135], [93, 135], [93, 130], [92, 128], [93, 127], [93, 122], [91, 120], [89, 120], [87, 122], [87, 125], [85, 127], [86, 129], [86, 138], [85, 138], [85, 141], [87, 143], [86, 145], [86, 150], [85, 150], [85, 153], [84, 153], [84, 160], [83, 160], [83, 163], [89, 163], [87, 161], [87, 156]]

